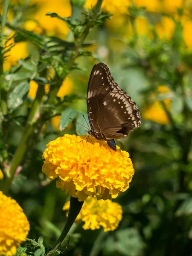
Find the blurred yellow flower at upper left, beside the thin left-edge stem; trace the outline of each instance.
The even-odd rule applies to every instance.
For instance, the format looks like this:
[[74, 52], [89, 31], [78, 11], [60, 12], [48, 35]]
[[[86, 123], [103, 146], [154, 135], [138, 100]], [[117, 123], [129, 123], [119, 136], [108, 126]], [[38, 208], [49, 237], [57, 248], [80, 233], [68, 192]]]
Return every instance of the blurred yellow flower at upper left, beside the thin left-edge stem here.
[[27, 42], [16, 43], [6, 55], [7, 57], [3, 63], [4, 71], [10, 70], [12, 66], [17, 65], [19, 59], [26, 58], [29, 55]]

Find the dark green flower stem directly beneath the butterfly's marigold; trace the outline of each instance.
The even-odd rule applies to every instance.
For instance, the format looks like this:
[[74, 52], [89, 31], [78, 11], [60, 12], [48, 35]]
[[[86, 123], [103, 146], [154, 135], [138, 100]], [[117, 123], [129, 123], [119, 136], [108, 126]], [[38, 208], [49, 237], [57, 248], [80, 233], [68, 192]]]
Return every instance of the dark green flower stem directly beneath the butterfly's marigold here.
[[47, 256], [50, 256], [52, 253], [54, 253], [61, 245], [62, 241], [64, 241], [65, 237], [67, 236], [67, 233], [69, 232], [71, 226], [75, 222], [77, 216], [79, 215], [79, 212], [83, 206], [84, 201], [79, 202], [77, 198], [70, 198], [70, 209], [69, 209], [69, 215], [67, 217], [67, 221], [65, 223], [64, 229], [61, 233], [61, 236], [59, 236], [55, 247], [47, 253]]

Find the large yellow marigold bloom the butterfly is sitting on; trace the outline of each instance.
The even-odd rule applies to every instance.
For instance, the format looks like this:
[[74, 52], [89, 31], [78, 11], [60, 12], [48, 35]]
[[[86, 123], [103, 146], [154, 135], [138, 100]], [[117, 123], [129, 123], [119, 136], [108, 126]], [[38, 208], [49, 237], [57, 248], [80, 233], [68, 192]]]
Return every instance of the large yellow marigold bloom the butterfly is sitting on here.
[[[116, 198], [128, 189], [134, 169], [126, 151], [117, 152], [105, 142], [89, 137], [65, 134], [47, 144], [42, 172], [57, 187], [79, 201], [88, 195], [99, 199]], [[79, 143], [81, 141], [81, 143]]]

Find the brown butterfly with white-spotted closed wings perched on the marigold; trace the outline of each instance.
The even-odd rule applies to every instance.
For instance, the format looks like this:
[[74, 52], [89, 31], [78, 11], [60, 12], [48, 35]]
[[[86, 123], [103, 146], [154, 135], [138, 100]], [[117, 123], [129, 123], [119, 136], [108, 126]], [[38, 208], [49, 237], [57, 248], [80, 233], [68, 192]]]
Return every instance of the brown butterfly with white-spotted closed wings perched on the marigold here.
[[113, 80], [107, 65], [94, 65], [87, 88], [88, 134], [107, 141], [116, 151], [114, 139], [128, 136], [141, 124], [139, 109], [131, 97]]

